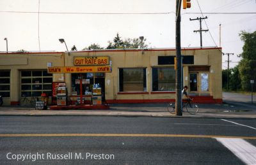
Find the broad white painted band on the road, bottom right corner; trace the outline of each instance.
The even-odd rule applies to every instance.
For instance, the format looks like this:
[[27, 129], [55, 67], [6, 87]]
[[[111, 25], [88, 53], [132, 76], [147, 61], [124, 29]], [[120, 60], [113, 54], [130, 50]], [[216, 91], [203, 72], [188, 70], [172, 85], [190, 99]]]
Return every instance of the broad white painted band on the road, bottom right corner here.
[[256, 147], [243, 139], [215, 138], [245, 164], [256, 164]]

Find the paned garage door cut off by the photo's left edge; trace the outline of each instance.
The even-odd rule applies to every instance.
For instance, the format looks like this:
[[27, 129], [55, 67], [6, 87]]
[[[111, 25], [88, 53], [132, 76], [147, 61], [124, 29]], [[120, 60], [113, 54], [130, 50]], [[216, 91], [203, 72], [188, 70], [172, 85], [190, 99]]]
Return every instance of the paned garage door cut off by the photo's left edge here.
[[0, 95], [10, 97], [10, 71], [0, 71]]

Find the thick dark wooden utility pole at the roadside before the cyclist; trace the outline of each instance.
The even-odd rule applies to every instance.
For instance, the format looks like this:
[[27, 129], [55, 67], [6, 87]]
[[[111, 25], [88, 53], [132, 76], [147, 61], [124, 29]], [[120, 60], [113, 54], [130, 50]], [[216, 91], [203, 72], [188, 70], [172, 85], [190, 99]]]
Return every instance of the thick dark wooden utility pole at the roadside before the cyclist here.
[[181, 0], [176, 0], [176, 60], [177, 69], [175, 70], [175, 113], [182, 116], [182, 95], [181, 95], [181, 48], [180, 48], [180, 6]]

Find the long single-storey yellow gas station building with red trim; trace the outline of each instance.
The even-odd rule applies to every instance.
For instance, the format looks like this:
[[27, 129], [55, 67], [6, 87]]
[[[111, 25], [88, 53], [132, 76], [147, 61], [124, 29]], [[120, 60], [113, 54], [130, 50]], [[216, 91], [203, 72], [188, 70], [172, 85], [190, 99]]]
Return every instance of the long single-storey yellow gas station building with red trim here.
[[[103, 103], [167, 103], [175, 99], [176, 50], [117, 49], [77, 52], [0, 53], [0, 95], [4, 104], [22, 96], [49, 96], [63, 83], [76, 102], [90, 104], [95, 85]], [[221, 48], [182, 48], [182, 86], [198, 103], [222, 103]]]

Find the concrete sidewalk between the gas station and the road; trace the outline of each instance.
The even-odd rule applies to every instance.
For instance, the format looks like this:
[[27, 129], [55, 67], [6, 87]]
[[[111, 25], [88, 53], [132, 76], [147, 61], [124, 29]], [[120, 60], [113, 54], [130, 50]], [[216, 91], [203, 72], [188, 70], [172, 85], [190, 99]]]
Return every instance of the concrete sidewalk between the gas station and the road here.
[[[109, 110], [35, 110], [21, 106], [1, 106], [0, 115], [26, 116], [122, 116], [122, 117], [178, 117], [167, 111], [166, 104], [111, 104]], [[182, 117], [191, 118], [256, 118], [256, 106], [244, 107], [232, 104], [200, 104], [196, 115], [185, 111]]]

